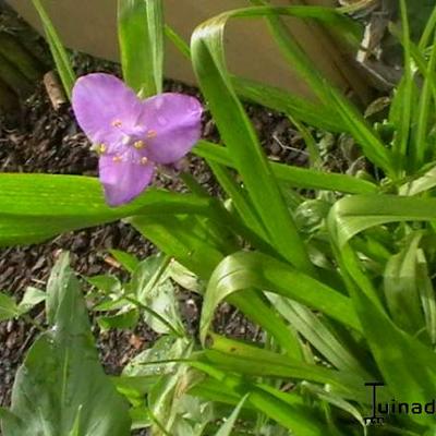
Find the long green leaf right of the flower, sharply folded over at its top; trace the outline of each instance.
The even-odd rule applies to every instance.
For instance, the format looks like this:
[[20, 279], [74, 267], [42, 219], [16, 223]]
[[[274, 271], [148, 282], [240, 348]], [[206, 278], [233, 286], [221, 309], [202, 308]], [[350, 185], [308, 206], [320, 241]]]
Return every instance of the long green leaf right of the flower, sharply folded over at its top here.
[[[258, 14], [259, 9], [252, 8], [250, 13]], [[244, 13], [245, 10], [241, 12]], [[238, 12], [213, 19], [194, 32], [191, 46], [194, 70], [270, 244], [288, 262], [313, 274], [304, 243], [226, 69], [223, 31], [227, 21], [233, 16], [238, 16]]]

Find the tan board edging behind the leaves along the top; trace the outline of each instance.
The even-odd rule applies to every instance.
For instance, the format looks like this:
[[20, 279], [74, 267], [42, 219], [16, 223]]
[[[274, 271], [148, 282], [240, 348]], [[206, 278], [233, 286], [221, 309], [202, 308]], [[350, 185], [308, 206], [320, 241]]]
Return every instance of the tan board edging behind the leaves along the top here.
[[[19, 13], [40, 29], [38, 17], [29, 0], [7, 0]], [[275, 0], [276, 5], [289, 5], [290, 0]], [[305, 3], [332, 5], [334, 0], [310, 0]], [[189, 40], [192, 31], [208, 17], [237, 8], [246, 0], [165, 0], [167, 22]], [[90, 55], [118, 60], [117, 0], [46, 0], [46, 9], [63, 43]], [[320, 28], [295, 19], [287, 19], [289, 28], [315, 60], [324, 74], [341, 89], [352, 88], [364, 98], [366, 85]], [[311, 96], [304, 82], [290, 71], [270, 37], [263, 20], [231, 23], [226, 34], [229, 68], [233, 73], [271, 85], [284, 87], [300, 95]], [[166, 75], [194, 83], [190, 63], [167, 45]], [[350, 73], [351, 71], [351, 73]]]

